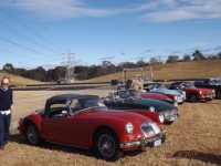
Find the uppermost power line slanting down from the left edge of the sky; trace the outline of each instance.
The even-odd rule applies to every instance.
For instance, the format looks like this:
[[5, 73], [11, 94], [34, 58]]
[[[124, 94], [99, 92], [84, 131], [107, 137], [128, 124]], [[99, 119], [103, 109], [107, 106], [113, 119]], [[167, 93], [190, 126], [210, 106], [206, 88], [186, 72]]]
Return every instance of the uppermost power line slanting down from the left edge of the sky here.
[[41, 40], [43, 40], [44, 42], [53, 45], [55, 49], [57, 48], [53, 42], [51, 42], [50, 40], [45, 39], [43, 35], [39, 34], [36, 31], [34, 31], [33, 29], [31, 29], [30, 27], [28, 27], [27, 24], [24, 24], [22, 21], [20, 21], [19, 19], [17, 19], [14, 15], [10, 14], [9, 12], [7, 12], [6, 10], [0, 10], [2, 13], [4, 13], [6, 15], [10, 17], [12, 20], [14, 20], [17, 23], [19, 23], [20, 25], [24, 27], [27, 30], [29, 30], [30, 32], [32, 32], [34, 35], [36, 35], [38, 38], [40, 38]]

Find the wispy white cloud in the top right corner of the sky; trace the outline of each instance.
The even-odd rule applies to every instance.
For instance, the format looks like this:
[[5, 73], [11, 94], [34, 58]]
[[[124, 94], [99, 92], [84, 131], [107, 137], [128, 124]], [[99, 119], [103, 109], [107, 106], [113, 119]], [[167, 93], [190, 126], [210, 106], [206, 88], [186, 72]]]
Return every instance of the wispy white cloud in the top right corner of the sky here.
[[146, 21], [172, 22], [180, 20], [209, 20], [221, 19], [221, 0], [177, 0], [168, 2], [165, 0], [154, 12], [147, 12], [143, 15]]

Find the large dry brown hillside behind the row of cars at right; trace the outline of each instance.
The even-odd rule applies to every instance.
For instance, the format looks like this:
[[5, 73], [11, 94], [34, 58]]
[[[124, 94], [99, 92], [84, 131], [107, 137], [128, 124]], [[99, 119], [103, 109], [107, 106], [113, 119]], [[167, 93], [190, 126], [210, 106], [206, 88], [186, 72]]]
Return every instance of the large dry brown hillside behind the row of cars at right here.
[[[193, 80], [199, 77], [221, 76], [221, 60], [204, 60], [191, 62], [178, 62], [152, 65], [154, 80]], [[127, 79], [138, 73], [127, 73]], [[143, 75], [149, 75], [149, 66], [144, 68]], [[122, 80], [123, 72], [91, 79], [84, 82], [109, 82], [110, 80]]]

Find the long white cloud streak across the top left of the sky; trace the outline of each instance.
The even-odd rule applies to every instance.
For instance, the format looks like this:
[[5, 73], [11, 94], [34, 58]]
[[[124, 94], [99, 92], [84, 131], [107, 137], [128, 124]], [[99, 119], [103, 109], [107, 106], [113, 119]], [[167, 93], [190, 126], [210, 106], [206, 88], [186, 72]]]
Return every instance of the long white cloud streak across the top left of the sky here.
[[86, 7], [83, 0], [0, 0], [0, 6], [10, 6], [32, 12], [43, 19], [69, 19], [76, 17], [110, 15], [114, 11]]

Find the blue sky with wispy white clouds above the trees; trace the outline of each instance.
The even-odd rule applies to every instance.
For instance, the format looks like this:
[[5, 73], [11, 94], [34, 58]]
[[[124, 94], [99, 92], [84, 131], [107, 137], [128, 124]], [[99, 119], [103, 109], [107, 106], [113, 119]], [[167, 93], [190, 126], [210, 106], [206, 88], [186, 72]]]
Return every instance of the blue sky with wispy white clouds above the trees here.
[[0, 68], [221, 52], [221, 0], [0, 0]]

